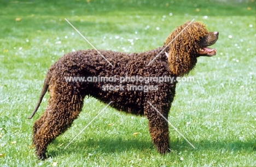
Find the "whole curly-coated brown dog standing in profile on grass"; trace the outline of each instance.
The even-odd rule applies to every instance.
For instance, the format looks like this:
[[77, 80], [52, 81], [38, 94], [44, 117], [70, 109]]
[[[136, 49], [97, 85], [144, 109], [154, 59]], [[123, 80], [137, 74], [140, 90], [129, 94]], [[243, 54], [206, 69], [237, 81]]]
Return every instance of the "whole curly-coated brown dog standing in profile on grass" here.
[[[207, 46], [217, 39], [218, 32], [208, 32], [201, 22], [187, 22], [154, 50], [141, 53], [100, 50], [111, 64], [96, 50], [64, 55], [48, 70], [39, 102], [29, 117], [36, 113], [48, 90], [48, 106], [33, 126], [38, 158], [45, 159], [50, 142], [71, 127], [86, 96], [112, 102], [110, 106], [117, 110], [146, 116], [158, 152], [167, 153], [170, 151], [168, 122], [162, 116], [168, 118], [177, 84], [175, 79], [188, 74], [198, 57], [216, 55], [216, 50]], [[80, 78], [76, 81], [71, 77]]]

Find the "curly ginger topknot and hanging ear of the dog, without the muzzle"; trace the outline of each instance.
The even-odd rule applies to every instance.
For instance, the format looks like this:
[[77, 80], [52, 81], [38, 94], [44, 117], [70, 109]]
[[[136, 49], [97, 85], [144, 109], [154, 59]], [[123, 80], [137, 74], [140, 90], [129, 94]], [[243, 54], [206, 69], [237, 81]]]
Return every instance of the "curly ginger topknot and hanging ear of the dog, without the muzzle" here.
[[169, 69], [173, 75], [183, 76], [195, 67], [199, 41], [207, 33], [201, 22], [187, 22], [167, 37], [164, 45], [168, 46]]

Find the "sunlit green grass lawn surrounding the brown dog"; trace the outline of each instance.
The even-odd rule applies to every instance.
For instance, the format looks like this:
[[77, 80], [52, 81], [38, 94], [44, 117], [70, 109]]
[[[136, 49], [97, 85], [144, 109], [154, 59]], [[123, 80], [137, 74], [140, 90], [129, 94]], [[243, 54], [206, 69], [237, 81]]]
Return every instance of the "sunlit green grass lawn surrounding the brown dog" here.
[[[255, 4], [231, 2], [2, 1], [0, 166], [256, 166]], [[106, 106], [90, 98], [73, 126], [48, 147], [50, 158], [37, 160], [32, 126], [48, 94], [36, 116], [26, 118], [46, 71], [64, 53], [91, 49], [65, 18], [97, 49], [125, 52], [161, 46], [176, 26], [194, 18], [219, 31], [217, 55], [200, 57], [189, 74], [195, 81], [177, 85], [169, 116], [196, 149], [170, 127], [172, 152], [162, 156], [146, 118], [107, 108], [65, 150]]]

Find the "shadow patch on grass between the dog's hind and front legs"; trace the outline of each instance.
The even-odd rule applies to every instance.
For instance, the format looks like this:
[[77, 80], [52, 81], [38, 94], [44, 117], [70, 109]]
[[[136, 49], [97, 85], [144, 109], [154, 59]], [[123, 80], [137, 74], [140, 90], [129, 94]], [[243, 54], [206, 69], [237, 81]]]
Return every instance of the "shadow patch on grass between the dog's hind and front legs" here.
[[[69, 142], [69, 141], [68, 141]], [[68, 144], [67, 141], [55, 141], [50, 145], [48, 151], [48, 157], [56, 157], [63, 154], [72, 154], [72, 153], [83, 153], [89, 154], [94, 152], [102, 153], [121, 153], [129, 150], [154, 150], [152, 142], [143, 141], [140, 139], [88, 139], [87, 141], [74, 141], [66, 149], [64, 147]], [[60, 143], [64, 143], [61, 147], [57, 146]]]

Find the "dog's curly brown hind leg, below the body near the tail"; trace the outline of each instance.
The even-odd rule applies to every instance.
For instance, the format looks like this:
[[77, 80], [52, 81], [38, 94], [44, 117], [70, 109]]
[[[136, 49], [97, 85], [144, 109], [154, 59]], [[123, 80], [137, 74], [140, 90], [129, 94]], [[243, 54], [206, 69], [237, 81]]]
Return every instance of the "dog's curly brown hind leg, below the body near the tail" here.
[[[39, 129], [33, 134], [33, 142], [36, 147], [36, 154], [39, 159], [45, 159], [47, 146], [57, 136], [64, 133], [78, 117], [83, 107], [83, 97], [74, 90], [70, 90], [75, 95], [56, 93], [49, 100], [48, 107], [44, 115], [39, 118], [42, 123]], [[69, 91], [67, 91], [68, 93]], [[36, 124], [34, 128], [36, 128]]]

